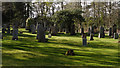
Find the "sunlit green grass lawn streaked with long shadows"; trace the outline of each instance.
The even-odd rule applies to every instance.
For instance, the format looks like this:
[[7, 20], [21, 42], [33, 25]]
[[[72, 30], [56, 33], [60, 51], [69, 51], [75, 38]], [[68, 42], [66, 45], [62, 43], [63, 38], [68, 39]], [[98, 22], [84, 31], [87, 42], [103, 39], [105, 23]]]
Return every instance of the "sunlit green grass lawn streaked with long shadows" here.
[[[12, 35], [3, 34], [3, 66], [118, 66], [118, 39], [94, 37], [88, 46], [82, 46], [80, 35], [52, 36], [48, 43], [39, 43], [36, 34], [24, 29], [19, 40], [13, 41]], [[48, 36], [46, 35], [46, 38]], [[73, 49], [75, 56], [64, 53]]]

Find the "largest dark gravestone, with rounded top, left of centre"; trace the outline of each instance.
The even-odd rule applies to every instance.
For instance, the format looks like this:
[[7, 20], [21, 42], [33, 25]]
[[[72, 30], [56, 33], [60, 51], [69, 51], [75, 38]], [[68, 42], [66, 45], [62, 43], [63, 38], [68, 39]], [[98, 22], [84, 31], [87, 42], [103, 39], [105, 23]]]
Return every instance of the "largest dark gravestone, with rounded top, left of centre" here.
[[37, 37], [38, 37], [38, 42], [46, 42], [45, 29], [41, 24], [39, 24], [37, 28]]

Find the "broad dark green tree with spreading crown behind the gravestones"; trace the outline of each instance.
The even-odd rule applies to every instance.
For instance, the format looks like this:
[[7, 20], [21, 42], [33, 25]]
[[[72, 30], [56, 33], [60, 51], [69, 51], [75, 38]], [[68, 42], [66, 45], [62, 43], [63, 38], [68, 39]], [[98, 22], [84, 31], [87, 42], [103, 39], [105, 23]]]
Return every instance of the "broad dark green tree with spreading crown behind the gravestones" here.
[[75, 34], [75, 22], [80, 21], [83, 22], [85, 21], [84, 18], [81, 16], [82, 11], [80, 9], [74, 9], [72, 11], [70, 10], [62, 10], [56, 12], [54, 14], [54, 21], [57, 24], [63, 24], [64, 27], [67, 29], [67, 31], [71, 34]]

